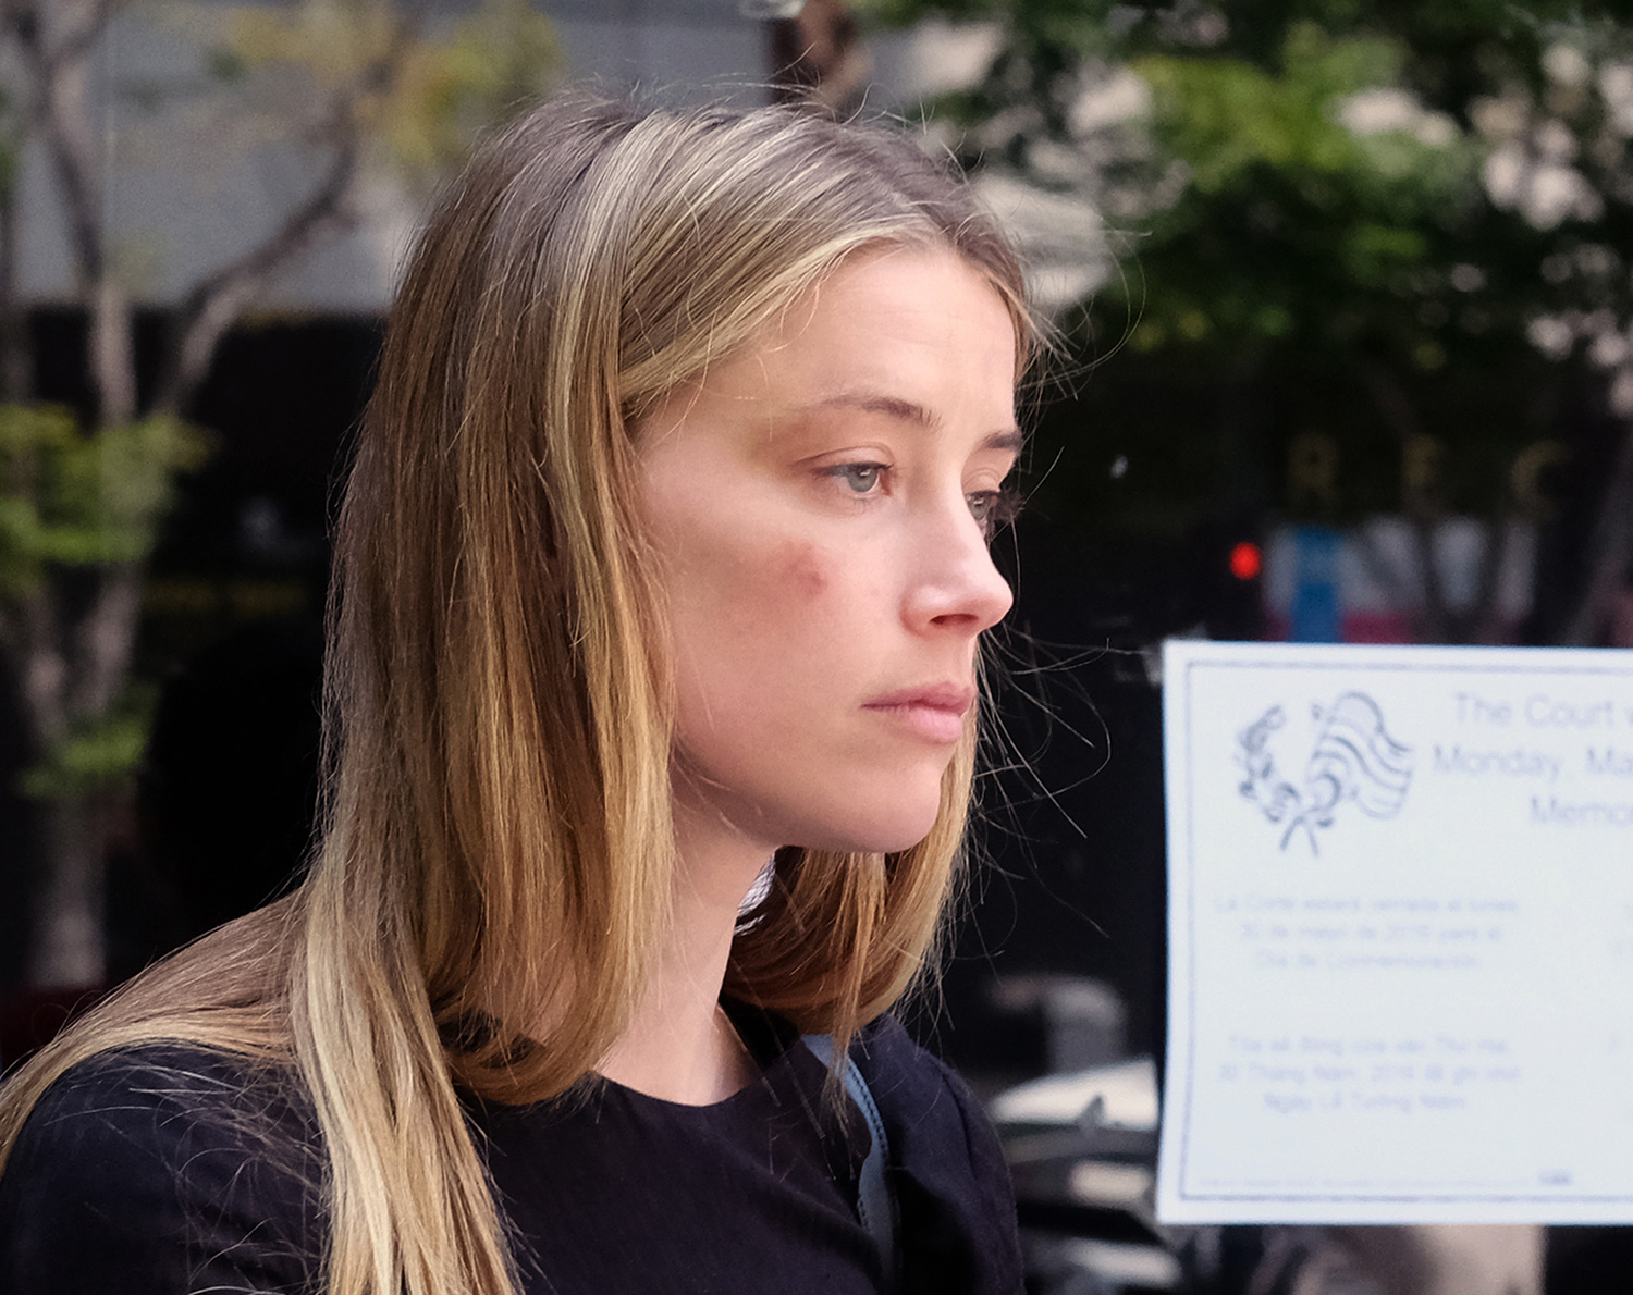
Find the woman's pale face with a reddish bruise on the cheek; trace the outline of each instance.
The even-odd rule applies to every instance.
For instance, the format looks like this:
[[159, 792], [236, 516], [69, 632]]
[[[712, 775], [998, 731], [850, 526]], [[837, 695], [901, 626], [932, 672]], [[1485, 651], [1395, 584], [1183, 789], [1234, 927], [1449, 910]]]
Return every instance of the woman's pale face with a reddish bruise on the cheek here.
[[642, 429], [671, 617], [676, 813], [769, 852], [931, 828], [1011, 603], [1014, 327], [950, 250], [859, 253]]

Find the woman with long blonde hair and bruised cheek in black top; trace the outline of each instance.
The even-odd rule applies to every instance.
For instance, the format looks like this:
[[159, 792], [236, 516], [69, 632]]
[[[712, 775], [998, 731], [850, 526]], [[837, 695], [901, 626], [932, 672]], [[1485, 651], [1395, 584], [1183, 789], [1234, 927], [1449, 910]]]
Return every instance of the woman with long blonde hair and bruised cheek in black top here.
[[905, 140], [490, 142], [346, 490], [310, 875], [10, 1081], [0, 1285], [1017, 1290], [991, 1130], [875, 1017], [954, 887], [1027, 338]]

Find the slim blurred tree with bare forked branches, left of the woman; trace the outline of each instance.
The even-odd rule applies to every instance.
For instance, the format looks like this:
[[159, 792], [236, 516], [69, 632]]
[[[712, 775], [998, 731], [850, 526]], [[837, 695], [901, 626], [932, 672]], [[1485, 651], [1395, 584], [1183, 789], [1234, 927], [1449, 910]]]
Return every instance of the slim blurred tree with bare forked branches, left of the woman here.
[[0, 171], [0, 650], [20, 681], [41, 799], [36, 985], [100, 981], [103, 818], [109, 784], [140, 751], [131, 691], [144, 562], [176, 474], [204, 439], [189, 402], [234, 322], [299, 258], [359, 219], [364, 180], [390, 167], [434, 176], [469, 131], [558, 65], [549, 24], [524, 0], [488, 0], [433, 31], [389, 0], [300, 0], [206, 11], [196, 34], [222, 114], [273, 129], [312, 165], [309, 189], [273, 227], [202, 274], [168, 312], [152, 392], [137, 382], [129, 269], [108, 222], [106, 140], [93, 57], [121, 0], [0, 0], [0, 41], [20, 70], [11, 157], [51, 165], [87, 315], [83, 418], [29, 403], [26, 327], [15, 292], [15, 165]]

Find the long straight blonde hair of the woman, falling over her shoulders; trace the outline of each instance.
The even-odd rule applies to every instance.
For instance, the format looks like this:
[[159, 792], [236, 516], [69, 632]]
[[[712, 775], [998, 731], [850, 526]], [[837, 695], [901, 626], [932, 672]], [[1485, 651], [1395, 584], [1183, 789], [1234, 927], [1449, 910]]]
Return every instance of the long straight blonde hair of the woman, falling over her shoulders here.
[[[477, 154], [392, 310], [340, 516], [310, 874], [11, 1079], [0, 1156], [39, 1094], [105, 1048], [268, 1057], [317, 1110], [333, 1295], [514, 1288], [456, 1086], [519, 1102], [581, 1081], [627, 1022], [670, 901], [670, 696], [635, 433], [882, 243], [952, 247], [1026, 349], [1009, 245], [892, 132], [573, 96]], [[782, 851], [727, 990], [839, 1040], [897, 1001], [954, 887], [972, 769], [967, 735], [908, 851]]]

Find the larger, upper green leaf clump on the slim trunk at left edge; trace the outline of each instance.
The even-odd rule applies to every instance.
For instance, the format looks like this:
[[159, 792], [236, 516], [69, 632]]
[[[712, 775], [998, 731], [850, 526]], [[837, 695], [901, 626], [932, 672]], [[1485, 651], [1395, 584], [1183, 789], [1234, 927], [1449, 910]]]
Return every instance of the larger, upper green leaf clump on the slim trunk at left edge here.
[[34, 593], [54, 567], [145, 558], [176, 474], [207, 447], [175, 418], [82, 433], [67, 410], [0, 405], [0, 596]]

